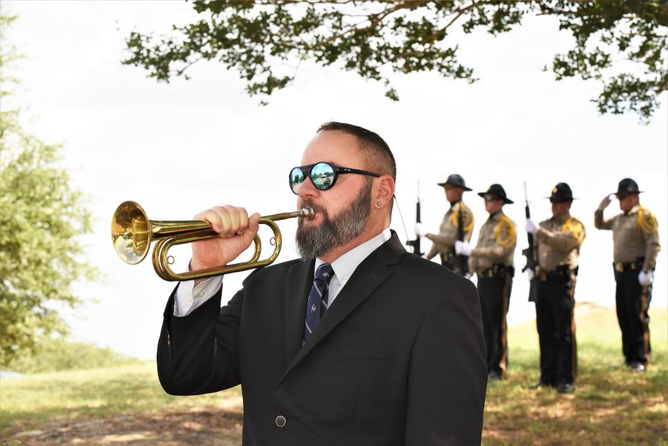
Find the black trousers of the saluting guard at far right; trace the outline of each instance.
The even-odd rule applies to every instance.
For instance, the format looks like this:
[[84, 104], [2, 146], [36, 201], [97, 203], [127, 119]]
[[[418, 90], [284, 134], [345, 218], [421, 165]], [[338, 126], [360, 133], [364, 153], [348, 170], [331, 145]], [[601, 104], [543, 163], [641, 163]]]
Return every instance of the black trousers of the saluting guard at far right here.
[[617, 282], [617, 321], [621, 328], [621, 348], [627, 364], [647, 364], [652, 353], [647, 314], [652, 299], [652, 285], [640, 285], [638, 273], [630, 269], [614, 271], [614, 280]]

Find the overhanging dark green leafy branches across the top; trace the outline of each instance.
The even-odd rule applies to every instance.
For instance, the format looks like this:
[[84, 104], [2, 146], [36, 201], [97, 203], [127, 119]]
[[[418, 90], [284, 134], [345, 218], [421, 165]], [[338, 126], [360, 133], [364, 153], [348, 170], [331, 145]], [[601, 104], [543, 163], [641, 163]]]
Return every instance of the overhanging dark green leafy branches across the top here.
[[[123, 61], [169, 81], [198, 61], [217, 59], [247, 83], [250, 95], [267, 97], [295, 77], [289, 63], [337, 64], [381, 81], [399, 99], [389, 72], [435, 71], [474, 82], [462, 65], [452, 31], [486, 29], [497, 35], [526, 15], [550, 15], [575, 38], [556, 54], [552, 72], [603, 83], [601, 113], [635, 111], [648, 121], [668, 86], [666, 0], [194, 0], [198, 21], [173, 26], [155, 38], [138, 31], [126, 40]], [[617, 59], [620, 59], [618, 61]], [[628, 64], [623, 64], [626, 61]], [[610, 74], [613, 65], [621, 67]], [[263, 102], [262, 103], [266, 103]]]

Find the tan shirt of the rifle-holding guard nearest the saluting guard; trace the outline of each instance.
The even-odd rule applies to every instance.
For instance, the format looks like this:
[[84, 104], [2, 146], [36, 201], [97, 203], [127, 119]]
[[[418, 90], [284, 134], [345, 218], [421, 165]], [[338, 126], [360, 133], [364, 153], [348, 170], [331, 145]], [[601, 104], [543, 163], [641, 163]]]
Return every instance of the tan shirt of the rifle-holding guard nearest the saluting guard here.
[[541, 221], [536, 232], [541, 269], [555, 271], [562, 265], [568, 265], [568, 269], [577, 268], [580, 246], [586, 236], [582, 222], [571, 214]]

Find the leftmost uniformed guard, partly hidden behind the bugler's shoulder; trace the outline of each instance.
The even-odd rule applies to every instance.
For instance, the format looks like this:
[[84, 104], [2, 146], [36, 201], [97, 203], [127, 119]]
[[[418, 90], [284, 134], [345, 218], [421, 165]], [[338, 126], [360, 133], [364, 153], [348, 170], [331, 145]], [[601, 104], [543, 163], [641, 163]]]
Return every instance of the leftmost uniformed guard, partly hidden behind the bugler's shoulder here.
[[463, 226], [463, 239], [465, 241], [471, 239], [475, 221], [473, 212], [464, 204], [462, 196], [465, 191], [471, 191], [472, 189], [466, 187], [463, 177], [456, 173], [453, 173], [447, 177], [444, 183], [438, 183], [438, 185], [443, 186], [445, 198], [450, 202], [450, 209], [445, 213], [443, 222], [440, 223], [439, 232], [438, 234], [417, 234], [418, 231], [422, 232], [422, 228], [417, 227], [415, 233], [427, 237], [433, 242], [431, 250], [427, 254], [427, 259], [431, 260], [436, 254], [440, 254], [440, 262], [443, 266], [461, 276], [470, 277], [468, 259], [456, 255], [454, 242], [457, 241], [460, 221]]

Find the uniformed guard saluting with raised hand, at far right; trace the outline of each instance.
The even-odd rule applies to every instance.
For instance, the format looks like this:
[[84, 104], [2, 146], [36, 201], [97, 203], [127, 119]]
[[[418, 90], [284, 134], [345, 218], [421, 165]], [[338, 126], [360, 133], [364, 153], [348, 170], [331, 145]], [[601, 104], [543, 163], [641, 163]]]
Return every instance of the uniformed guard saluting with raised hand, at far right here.
[[648, 309], [661, 249], [658, 223], [654, 214], [640, 205], [640, 193], [637, 182], [624, 178], [614, 194], [623, 214], [603, 218], [612, 194], [603, 198], [594, 213], [596, 228], [612, 230], [617, 320], [626, 365], [634, 372], [644, 372], [651, 356]]

